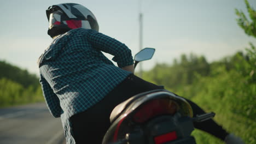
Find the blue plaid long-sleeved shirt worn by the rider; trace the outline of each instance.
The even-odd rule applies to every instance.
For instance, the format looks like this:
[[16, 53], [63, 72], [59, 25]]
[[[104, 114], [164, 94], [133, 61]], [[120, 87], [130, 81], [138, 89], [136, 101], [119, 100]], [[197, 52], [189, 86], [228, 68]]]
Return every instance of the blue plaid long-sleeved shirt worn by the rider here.
[[69, 118], [98, 103], [130, 74], [101, 51], [113, 55], [120, 68], [133, 64], [125, 44], [83, 28], [56, 37], [39, 58], [43, 95], [51, 114], [61, 117], [67, 143], [75, 143]]

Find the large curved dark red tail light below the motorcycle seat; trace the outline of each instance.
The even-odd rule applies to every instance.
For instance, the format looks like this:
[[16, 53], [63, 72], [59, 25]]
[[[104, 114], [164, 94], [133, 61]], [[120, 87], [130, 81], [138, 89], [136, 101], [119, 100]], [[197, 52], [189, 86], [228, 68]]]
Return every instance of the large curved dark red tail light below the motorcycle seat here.
[[133, 121], [144, 123], [155, 116], [174, 114], [177, 110], [178, 104], [171, 99], [153, 99], [138, 107], [133, 115]]

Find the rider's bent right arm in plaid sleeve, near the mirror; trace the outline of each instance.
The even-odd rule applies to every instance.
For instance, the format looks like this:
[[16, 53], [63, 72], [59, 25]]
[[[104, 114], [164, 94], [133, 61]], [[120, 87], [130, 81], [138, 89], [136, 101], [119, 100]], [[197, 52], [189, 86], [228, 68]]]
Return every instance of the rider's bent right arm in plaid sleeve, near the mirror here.
[[113, 55], [114, 57], [112, 60], [117, 62], [119, 68], [123, 68], [131, 72], [133, 71], [131, 66], [133, 64], [131, 50], [125, 44], [94, 30], [90, 30], [87, 38], [89, 43], [96, 50]]

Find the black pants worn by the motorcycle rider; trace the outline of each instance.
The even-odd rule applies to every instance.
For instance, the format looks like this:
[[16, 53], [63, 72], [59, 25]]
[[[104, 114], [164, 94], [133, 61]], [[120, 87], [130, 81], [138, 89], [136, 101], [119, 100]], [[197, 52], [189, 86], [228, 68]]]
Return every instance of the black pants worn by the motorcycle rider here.
[[[154, 89], [161, 88], [153, 83], [144, 81], [135, 75], [127, 77], [99, 103], [92, 106], [90, 109], [71, 117], [75, 142], [78, 144], [100, 144], [104, 134], [110, 126], [109, 116], [114, 107], [133, 95]], [[205, 113], [192, 101], [188, 100], [188, 102], [193, 109], [194, 115]], [[226, 131], [212, 119], [201, 123], [194, 123], [194, 126], [195, 128], [206, 131], [222, 140], [228, 135], [228, 133], [226, 133]]]

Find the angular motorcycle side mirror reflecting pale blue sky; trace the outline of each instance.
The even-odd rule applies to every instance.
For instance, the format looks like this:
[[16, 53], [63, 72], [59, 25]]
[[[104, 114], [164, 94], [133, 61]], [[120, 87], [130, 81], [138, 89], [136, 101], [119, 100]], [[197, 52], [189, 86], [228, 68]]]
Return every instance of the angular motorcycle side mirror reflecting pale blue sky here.
[[134, 68], [139, 62], [151, 59], [154, 53], [155, 53], [155, 49], [149, 48], [149, 47], [146, 47], [143, 50], [139, 51], [134, 57], [134, 60], [135, 60]]

